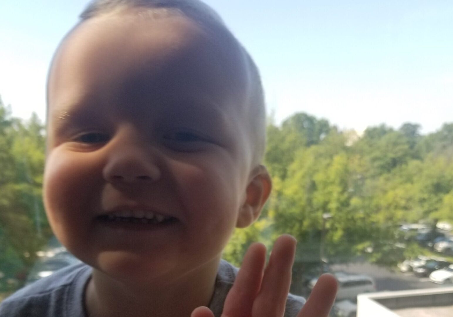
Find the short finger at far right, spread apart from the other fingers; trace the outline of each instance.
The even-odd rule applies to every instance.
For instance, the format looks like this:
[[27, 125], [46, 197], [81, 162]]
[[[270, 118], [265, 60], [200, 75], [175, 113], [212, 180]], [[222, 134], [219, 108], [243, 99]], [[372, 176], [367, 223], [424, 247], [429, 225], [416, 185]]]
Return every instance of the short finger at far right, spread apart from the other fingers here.
[[297, 317], [327, 317], [335, 301], [337, 288], [337, 279], [332, 274], [321, 275]]

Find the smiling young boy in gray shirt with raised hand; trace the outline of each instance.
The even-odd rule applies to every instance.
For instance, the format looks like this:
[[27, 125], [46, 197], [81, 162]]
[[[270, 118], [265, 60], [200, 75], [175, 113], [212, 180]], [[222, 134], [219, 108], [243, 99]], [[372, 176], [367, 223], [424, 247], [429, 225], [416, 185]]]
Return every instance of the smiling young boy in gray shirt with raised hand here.
[[327, 316], [331, 276], [300, 313], [288, 295], [292, 237], [266, 269], [262, 244], [239, 273], [221, 261], [271, 181], [258, 71], [217, 14], [198, 0], [95, 0], [81, 17], [49, 72], [44, 202], [84, 263], [0, 316]]

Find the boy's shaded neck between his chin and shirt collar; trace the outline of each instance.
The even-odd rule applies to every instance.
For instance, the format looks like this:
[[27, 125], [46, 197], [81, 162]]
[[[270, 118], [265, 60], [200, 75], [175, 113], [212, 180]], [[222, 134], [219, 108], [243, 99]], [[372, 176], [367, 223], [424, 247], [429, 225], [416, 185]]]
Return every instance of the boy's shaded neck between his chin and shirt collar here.
[[89, 317], [187, 317], [208, 306], [220, 259], [187, 274], [146, 283], [119, 282], [93, 268], [85, 303]]

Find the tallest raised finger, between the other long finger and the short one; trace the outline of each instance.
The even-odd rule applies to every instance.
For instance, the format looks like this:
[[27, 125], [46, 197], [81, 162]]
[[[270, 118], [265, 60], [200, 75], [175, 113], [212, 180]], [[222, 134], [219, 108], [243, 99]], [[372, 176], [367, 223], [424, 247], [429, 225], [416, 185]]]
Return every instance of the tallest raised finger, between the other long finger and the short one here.
[[275, 241], [260, 293], [253, 304], [252, 316], [283, 316], [295, 250], [296, 239], [289, 234], [284, 234]]

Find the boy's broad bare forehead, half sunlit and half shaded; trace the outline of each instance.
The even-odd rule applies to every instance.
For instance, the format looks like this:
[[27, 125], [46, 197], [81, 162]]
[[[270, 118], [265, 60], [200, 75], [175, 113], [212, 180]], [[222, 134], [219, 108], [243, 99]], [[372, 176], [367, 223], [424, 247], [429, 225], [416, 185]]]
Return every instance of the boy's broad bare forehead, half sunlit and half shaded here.
[[244, 65], [231, 39], [207, 34], [181, 15], [92, 18], [58, 49], [49, 76], [49, 114], [85, 100], [140, 110], [195, 98], [240, 110], [248, 87]]

